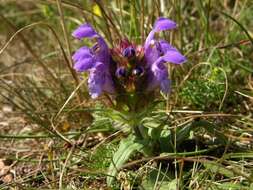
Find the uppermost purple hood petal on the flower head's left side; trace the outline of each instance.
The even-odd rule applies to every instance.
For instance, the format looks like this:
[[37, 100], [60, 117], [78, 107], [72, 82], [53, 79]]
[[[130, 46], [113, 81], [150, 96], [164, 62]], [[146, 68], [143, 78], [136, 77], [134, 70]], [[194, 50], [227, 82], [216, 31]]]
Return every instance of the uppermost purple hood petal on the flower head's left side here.
[[94, 38], [98, 34], [89, 24], [83, 24], [74, 30], [72, 36], [80, 40], [82, 38]]

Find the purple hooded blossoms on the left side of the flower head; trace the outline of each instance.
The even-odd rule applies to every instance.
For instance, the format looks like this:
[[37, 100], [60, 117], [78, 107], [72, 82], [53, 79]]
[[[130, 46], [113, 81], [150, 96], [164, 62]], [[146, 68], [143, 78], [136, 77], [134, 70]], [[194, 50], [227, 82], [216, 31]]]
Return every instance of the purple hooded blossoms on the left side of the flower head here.
[[114, 87], [109, 73], [109, 48], [104, 39], [89, 24], [81, 25], [72, 35], [77, 39], [95, 38], [97, 41], [92, 48], [81, 47], [72, 57], [76, 71], [90, 72], [88, 87], [91, 97], [97, 98], [102, 92], [113, 93]]

